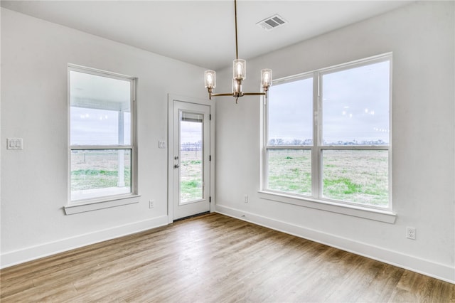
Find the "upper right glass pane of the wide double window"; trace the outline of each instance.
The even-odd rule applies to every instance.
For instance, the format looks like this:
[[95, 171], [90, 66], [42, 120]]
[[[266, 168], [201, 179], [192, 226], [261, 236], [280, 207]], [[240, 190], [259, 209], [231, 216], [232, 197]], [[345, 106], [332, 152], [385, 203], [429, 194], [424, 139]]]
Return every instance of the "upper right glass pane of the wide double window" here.
[[388, 60], [323, 75], [323, 144], [389, 144], [389, 105]]

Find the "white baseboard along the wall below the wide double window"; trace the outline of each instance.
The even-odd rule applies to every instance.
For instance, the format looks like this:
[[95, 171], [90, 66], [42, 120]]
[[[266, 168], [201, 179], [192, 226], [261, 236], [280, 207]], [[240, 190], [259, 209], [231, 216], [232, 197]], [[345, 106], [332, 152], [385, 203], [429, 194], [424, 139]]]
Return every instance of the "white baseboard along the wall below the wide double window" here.
[[337, 235], [304, 228], [303, 226], [286, 223], [273, 218], [258, 216], [254, 213], [240, 211], [236, 208], [230, 208], [220, 204], [217, 204], [216, 212], [455, 284], [455, 268], [449, 265], [424, 260], [419, 257], [403, 254], [402, 252], [387, 250], [348, 238], [341, 238]]

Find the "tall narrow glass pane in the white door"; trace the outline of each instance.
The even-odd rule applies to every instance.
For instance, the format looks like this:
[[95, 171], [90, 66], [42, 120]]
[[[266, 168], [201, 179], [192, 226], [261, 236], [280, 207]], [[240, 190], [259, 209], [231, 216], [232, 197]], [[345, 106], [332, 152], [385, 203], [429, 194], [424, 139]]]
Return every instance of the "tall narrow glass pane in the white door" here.
[[203, 115], [181, 112], [180, 203], [203, 198]]

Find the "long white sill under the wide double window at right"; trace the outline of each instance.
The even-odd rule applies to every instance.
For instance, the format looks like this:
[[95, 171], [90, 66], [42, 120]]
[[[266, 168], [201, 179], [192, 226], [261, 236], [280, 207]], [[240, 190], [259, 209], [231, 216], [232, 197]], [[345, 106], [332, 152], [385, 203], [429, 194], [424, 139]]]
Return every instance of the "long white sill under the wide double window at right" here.
[[321, 211], [330, 211], [332, 213], [341, 213], [347, 216], [365, 218], [368, 220], [376, 220], [390, 224], [395, 223], [395, 219], [397, 217], [397, 214], [393, 213], [392, 211], [382, 211], [380, 209], [365, 208], [362, 206], [351, 206], [311, 198], [296, 197], [286, 195], [283, 193], [274, 193], [270, 191], [258, 191], [258, 193], [259, 198], [265, 200], [288, 203], [307, 208], [314, 208], [319, 209]]

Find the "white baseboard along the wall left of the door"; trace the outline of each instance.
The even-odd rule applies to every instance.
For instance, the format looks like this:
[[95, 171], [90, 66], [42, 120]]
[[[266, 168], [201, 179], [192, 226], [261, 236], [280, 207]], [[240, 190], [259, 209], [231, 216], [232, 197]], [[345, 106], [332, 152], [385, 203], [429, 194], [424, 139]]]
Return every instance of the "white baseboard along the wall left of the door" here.
[[65, 238], [62, 240], [44, 243], [41, 245], [32, 246], [29, 248], [23, 248], [21, 250], [14, 250], [11, 252], [4, 252], [0, 256], [1, 264], [0, 268], [10, 267], [23, 262], [36, 260], [41, 257], [47, 257], [49, 255], [55, 255], [59, 252], [65, 252], [80, 248], [82, 246], [100, 243], [105, 240], [119, 238], [124, 235], [131, 235], [133, 233], [139, 233], [144, 230], [151, 228], [157, 228], [159, 226], [168, 224], [168, 216], [161, 216], [157, 218], [151, 218], [142, 220], [134, 223], [125, 225], [115, 226], [113, 228], [107, 228], [105, 230], [97, 230], [93, 233], [85, 233], [83, 235], [76, 235], [71, 238]]

